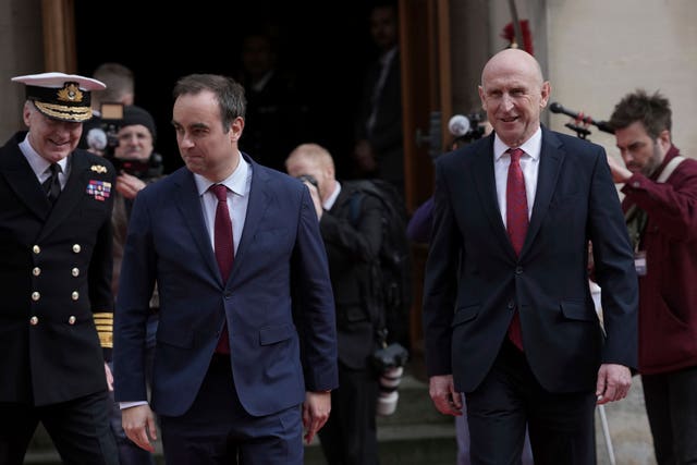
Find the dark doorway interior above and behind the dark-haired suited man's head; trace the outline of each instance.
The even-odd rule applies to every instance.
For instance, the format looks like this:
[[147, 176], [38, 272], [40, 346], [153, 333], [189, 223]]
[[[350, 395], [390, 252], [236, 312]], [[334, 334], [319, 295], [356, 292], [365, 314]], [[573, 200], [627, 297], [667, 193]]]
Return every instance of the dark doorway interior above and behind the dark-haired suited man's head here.
[[348, 178], [353, 114], [363, 71], [375, 53], [366, 19], [370, 3], [198, 0], [181, 8], [147, 0], [77, 0], [77, 71], [91, 75], [105, 61], [134, 71], [135, 102], [155, 117], [157, 149], [171, 172], [182, 164], [170, 124], [175, 81], [195, 72], [237, 75], [245, 32], [274, 24], [280, 63], [296, 73], [309, 106], [311, 142], [329, 148], [338, 175]]

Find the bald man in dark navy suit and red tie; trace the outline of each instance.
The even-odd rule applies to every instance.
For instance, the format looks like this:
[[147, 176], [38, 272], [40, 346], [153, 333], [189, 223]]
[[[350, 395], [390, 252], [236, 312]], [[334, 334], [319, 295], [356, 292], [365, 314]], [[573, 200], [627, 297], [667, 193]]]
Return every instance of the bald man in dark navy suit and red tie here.
[[436, 163], [430, 396], [461, 415], [465, 393], [473, 464], [519, 463], [526, 424], [536, 465], [595, 464], [595, 406], [627, 395], [637, 362], [637, 278], [606, 152], [540, 125], [550, 84], [523, 50], [489, 60], [479, 96], [493, 134]]

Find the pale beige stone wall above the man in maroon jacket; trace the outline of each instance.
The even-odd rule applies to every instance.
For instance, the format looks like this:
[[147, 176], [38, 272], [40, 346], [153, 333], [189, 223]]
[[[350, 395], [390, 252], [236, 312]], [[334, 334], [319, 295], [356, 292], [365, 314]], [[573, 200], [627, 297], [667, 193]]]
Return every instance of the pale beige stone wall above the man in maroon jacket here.
[[[553, 0], [547, 14], [557, 100], [607, 120], [625, 94], [661, 90], [673, 109], [673, 143], [697, 157], [697, 2]], [[567, 121], [555, 115], [552, 126]], [[619, 156], [612, 135], [594, 131], [591, 139]]]

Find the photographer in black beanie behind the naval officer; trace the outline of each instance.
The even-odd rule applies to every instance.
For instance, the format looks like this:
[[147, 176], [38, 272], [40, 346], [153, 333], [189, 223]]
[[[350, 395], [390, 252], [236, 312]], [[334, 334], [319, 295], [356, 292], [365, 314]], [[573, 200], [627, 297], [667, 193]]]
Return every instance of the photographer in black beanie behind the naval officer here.
[[[117, 145], [107, 147], [105, 155], [117, 169], [117, 195], [114, 196], [111, 224], [113, 228], [113, 295], [119, 292], [119, 277], [126, 230], [131, 217], [131, 207], [138, 192], [149, 183], [162, 176], [162, 157], [155, 151], [157, 130], [155, 120], [146, 110], [136, 106], [123, 109], [123, 119], [118, 123], [115, 136]], [[151, 368], [152, 352], [155, 350], [155, 333], [157, 331], [157, 311], [159, 299], [157, 287], [150, 299], [150, 318], [147, 332], [147, 366]], [[114, 374], [119, 376], [119, 374]], [[149, 379], [149, 374], [148, 374]], [[113, 396], [113, 382], [109, 382], [110, 394]], [[131, 441], [121, 426], [121, 409], [113, 403], [111, 428], [117, 437], [119, 460], [125, 465], [154, 465], [152, 455]]]

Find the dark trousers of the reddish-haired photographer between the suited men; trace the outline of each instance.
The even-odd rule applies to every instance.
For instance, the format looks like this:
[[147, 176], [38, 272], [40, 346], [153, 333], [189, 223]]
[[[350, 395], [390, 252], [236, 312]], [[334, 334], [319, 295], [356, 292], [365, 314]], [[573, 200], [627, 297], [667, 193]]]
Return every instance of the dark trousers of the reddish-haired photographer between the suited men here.
[[377, 465], [378, 379], [370, 368], [339, 364], [339, 388], [331, 392], [331, 414], [319, 430], [328, 465]]

